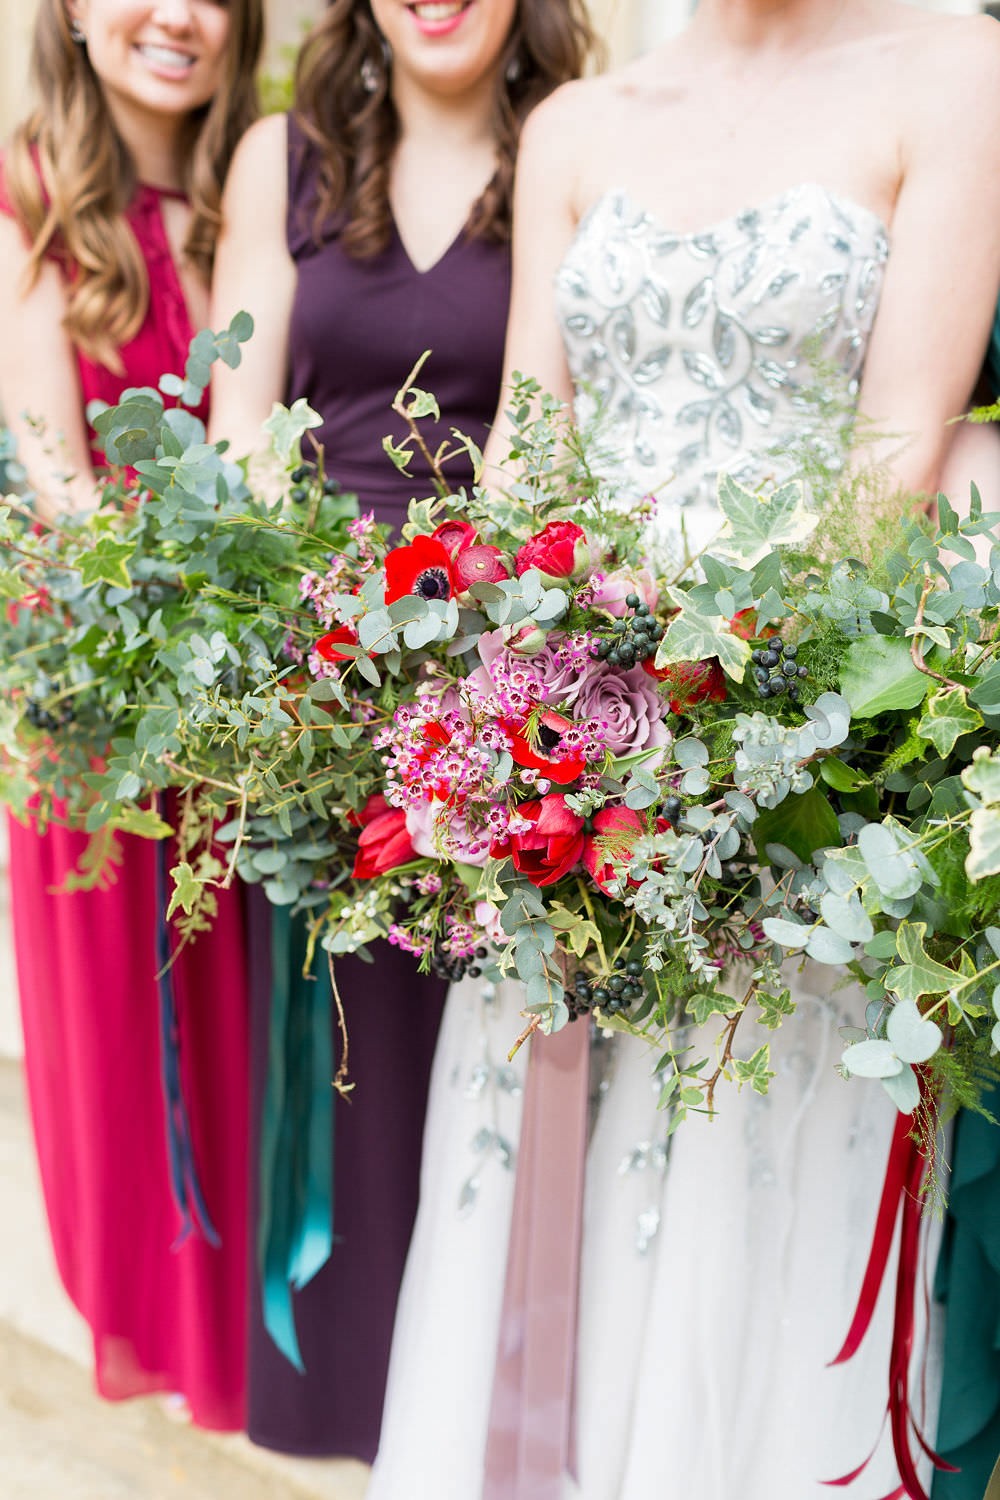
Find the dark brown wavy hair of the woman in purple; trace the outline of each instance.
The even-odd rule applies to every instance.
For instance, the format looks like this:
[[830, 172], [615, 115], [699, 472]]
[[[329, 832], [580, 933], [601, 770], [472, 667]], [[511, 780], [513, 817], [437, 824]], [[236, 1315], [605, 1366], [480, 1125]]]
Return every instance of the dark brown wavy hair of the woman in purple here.
[[[553, 88], [580, 76], [592, 51], [583, 0], [519, 0], [496, 74], [496, 172], [472, 208], [469, 234], [510, 238], [520, 128]], [[295, 117], [319, 164], [316, 236], [333, 220], [351, 255], [378, 255], [391, 232], [388, 178], [400, 122], [369, 0], [331, 0], [310, 32], [298, 57]]]

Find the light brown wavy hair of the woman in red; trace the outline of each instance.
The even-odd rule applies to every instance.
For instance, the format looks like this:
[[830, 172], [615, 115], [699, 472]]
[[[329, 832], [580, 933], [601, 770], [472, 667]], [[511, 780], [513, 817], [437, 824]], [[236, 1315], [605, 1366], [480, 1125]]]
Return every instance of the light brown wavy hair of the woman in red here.
[[[262, 0], [229, 0], [222, 82], [184, 122], [186, 258], [208, 280], [222, 224], [222, 186], [237, 141], [258, 116], [255, 70]], [[31, 242], [27, 290], [46, 256], [69, 268], [66, 332], [90, 358], [121, 369], [118, 350], [142, 327], [148, 273], [126, 222], [135, 165], [87, 48], [73, 42], [64, 0], [40, 0], [31, 78], [37, 105], [4, 153], [10, 204]]]

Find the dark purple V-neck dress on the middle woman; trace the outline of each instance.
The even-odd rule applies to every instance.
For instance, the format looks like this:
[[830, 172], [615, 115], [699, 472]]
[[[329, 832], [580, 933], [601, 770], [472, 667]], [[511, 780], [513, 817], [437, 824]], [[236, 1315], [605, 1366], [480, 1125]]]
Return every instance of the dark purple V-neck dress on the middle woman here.
[[[459, 234], [418, 272], [397, 232], [370, 260], [348, 255], [336, 225], [316, 238], [316, 164], [289, 118], [288, 246], [298, 282], [289, 330], [288, 399], [322, 416], [327, 470], [361, 507], [399, 526], [412, 495], [432, 494], [415, 460], [400, 476], [382, 452], [402, 436], [390, 410], [412, 364], [430, 350], [421, 384], [450, 426], [486, 436], [501, 388], [510, 302], [507, 246]], [[471, 482], [456, 465], [454, 482]], [[255, 892], [250, 892], [252, 898]], [[259, 936], [261, 922], [252, 922]], [[337, 960], [351, 1035], [349, 1104], [334, 1110], [334, 1246], [295, 1294], [306, 1374], [270, 1341], [253, 1272], [249, 1432], [270, 1448], [352, 1454], [378, 1444], [396, 1299], [417, 1212], [423, 1120], [445, 986], [417, 974], [387, 944], [375, 964]], [[252, 966], [252, 1114], [255, 1144], [267, 1080], [268, 970]], [[253, 1234], [250, 1236], [253, 1239]]]

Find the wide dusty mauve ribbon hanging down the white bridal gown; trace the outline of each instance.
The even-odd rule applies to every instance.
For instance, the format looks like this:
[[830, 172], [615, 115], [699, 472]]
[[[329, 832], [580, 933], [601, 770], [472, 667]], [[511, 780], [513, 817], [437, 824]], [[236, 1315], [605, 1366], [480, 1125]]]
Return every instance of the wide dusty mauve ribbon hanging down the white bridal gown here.
[[483, 1500], [559, 1500], [573, 1383], [589, 1026], [531, 1042]]

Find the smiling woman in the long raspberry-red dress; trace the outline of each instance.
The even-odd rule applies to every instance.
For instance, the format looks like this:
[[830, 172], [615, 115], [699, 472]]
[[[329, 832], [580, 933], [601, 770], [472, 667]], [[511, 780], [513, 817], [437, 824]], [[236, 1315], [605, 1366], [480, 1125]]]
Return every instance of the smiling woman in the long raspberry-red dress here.
[[[39, 508], [85, 508], [103, 462], [90, 400], [183, 369], [207, 320], [222, 182], [256, 116], [261, 0], [42, 0], [37, 105], [0, 176], [0, 399]], [[40, 416], [40, 436], [24, 414]], [[51, 444], [51, 447], [49, 447]], [[72, 477], [67, 480], [66, 476]], [[60, 894], [87, 838], [10, 825], [28, 1102], [52, 1248], [90, 1324], [97, 1390], [181, 1394], [195, 1422], [244, 1410], [246, 975], [240, 908], [180, 954], [183, 1082], [222, 1236], [181, 1240], [157, 1020], [157, 849]]]

